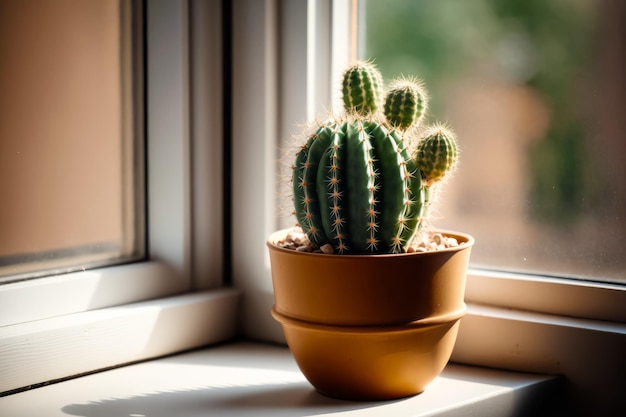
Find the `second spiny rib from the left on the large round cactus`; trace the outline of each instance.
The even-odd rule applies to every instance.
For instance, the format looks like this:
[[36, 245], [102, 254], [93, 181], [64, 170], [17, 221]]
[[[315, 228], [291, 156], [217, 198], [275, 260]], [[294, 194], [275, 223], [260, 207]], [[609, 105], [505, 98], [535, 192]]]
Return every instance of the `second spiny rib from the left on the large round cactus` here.
[[343, 205], [345, 137], [343, 131], [335, 131], [317, 171], [317, 194], [320, 196], [322, 224], [330, 243], [339, 253], [349, 250], [347, 210]]

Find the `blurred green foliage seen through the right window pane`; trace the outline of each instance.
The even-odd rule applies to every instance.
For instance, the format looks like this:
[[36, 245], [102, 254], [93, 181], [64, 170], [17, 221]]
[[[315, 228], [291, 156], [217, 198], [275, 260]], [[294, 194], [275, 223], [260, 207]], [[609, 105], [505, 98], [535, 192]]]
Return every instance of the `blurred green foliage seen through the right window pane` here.
[[[546, 136], [528, 149], [531, 215], [569, 223], [593, 188], [585, 160], [588, 118], [580, 105], [591, 74], [594, 0], [362, 0], [359, 55], [385, 79], [417, 74], [445, 91], [472, 68], [534, 88], [550, 113]], [[431, 113], [446, 119], [441, 96]], [[589, 199], [587, 199], [589, 201]]]

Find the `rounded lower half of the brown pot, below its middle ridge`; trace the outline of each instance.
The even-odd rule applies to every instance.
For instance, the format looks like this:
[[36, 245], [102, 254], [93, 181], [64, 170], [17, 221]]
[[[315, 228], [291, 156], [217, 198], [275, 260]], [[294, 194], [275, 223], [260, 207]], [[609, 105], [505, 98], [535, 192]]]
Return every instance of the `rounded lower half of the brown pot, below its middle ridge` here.
[[328, 326], [272, 310], [300, 370], [320, 393], [390, 400], [424, 391], [447, 364], [460, 316], [404, 326]]

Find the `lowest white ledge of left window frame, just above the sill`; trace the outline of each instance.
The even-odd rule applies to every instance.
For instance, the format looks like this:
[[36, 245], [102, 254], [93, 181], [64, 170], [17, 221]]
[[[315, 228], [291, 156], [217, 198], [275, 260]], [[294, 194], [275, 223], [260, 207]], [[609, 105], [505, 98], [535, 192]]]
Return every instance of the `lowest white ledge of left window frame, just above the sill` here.
[[228, 340], [239, 298], [224, 288], [0, 327], [0, 393]]

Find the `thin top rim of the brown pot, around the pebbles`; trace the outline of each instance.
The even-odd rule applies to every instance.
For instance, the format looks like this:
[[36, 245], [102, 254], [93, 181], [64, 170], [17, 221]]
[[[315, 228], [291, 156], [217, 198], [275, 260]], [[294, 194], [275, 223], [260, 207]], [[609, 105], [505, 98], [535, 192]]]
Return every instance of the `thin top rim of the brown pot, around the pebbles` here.
[[[281, 252], [287, 252], [287, 253], [291, 253], [291, 254], [296, 255], [296, 256], [318, 256], [318, 257], [325, 257], [325, 258], [341, 256], [342, 258], [346, 258], [346, 259], [350, 259], [350, 258], [358, 259], [358, 258], [364, 258], [364, 257], [392, 258], [392, 257], [397, 257], [397, 256], [428, 256], [428, 255], [432, 255], [434, 253], [458, 252], [458, 251], [463, 250], [463, 249], [471, 248], [472, 246], [474, 246], [474, 243], [475, 243], [474, 237], [472, 235], [470, 235], [470, 234], [463, 233], [463, 232], [458, 232], [458, 231], [455, 231], [455, 230], [434, 229], [433, 232], [441, 233], [442, 235], [444, 235], [446, 237], [461, 238], [463, 243], [459, 243], [459, 246], [455, 246], [455, 247], [451, 247], [451, 248], [445, 248], [445, 249], [438, 249], [438, 250], [429, 251], [429, 252], [411, 252], [411, 253], [403, 252], [403, 253], [378, 253], [378, 254], [340, 255], [340, 254], [337, 254], [337, 253], [327, 254], [327, 253], [299, 252], [299, 251], [295, 251], [293, 249], [282, 248], [282, 247], [276, 245], [275, 242], [277, 240], [279, 240], [278, 239], [279, 236], [286, 235], [290, 231], [301, 232], [302, 230], [299, 229], [298, 227], [289, 227], [289, 228], [286, 228], [286, 229], [276, 230], [276, 231], [274, 231], [274, 232], [272, 232], [270, 234], [270, 236], [266, 240], [265, 244], [267, 245], [268, 248], [270, 248], [272, 250], [277, 250], [277, 251], [281, 251]], [[459, 239], [457, 239], [457, 240], [459, 240]]]

